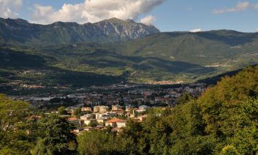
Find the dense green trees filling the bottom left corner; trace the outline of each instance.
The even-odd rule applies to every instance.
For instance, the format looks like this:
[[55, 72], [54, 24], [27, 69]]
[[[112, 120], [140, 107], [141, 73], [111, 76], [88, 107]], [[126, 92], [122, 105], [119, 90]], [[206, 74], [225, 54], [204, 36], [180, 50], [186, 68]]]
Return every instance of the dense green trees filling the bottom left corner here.
[[[28, 103], [0, 95], [1, 155], [76, 154], [74, 127], [58, 116], [37, 116]], [[38, 119], [40, 121], [38, 121]]]

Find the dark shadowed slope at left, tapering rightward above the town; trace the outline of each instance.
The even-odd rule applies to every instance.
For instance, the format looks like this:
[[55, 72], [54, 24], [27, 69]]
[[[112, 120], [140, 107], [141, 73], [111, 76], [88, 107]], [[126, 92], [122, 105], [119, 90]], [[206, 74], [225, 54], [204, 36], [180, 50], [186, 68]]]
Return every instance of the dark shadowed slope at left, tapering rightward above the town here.
[[80, 72], [56, 68], [52, 56], [36, 54], [28, 48], [8, 45], [0, 47], [0, 92], [5, 94], [34, 94], [73, 91], [92, 85], [111, 85], [125, 81], [122, 76]]

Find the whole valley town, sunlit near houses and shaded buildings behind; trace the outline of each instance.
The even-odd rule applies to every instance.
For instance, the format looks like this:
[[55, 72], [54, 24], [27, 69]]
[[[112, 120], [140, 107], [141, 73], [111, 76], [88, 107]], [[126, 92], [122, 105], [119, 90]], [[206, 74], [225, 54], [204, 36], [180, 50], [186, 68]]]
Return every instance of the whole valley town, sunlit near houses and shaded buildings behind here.
[[[144, 113], [149, 107], [173, 107], [178, 97], [188, 92], [193, 95], [201, 94], [206, 88], [202, 83], [183, 85], [173, 88], [133, 88], [132, 90], [110, 90], [109, 92], [86, 92], [82, 94], [47, 94], [45, 96], [13, 96], [12, 99], [29, 101], [33, 107], [65, 106], [69, 115], [67, 121], [76, 125], [76, 134], [81, 131], [103, 130], [111, 127], [119, 132], [127, 125], [127, 119], [143, 121], [147, 118]], [[67, 100], [66, 100], [67, 99]], [[53, 102], [54, 101], [54, 102]], [[67, 104], [65, 101], [72, 101]], [[45, 108], [46, 107], [46, 108]], [[74, 115], [74, 110], [82, 112]]]

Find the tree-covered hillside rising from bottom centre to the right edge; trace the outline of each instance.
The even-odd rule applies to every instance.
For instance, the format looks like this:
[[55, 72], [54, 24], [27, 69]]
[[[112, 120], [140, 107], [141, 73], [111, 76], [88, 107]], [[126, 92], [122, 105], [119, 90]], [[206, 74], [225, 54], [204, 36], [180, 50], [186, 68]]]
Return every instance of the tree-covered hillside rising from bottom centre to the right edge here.
[[258, 67], [247, 68], [222, 79], [199, 99], [182, 100], [162, 116], [150, 112], [142, 123], [127, 122], [122, 133], [85, 132], [78, 136], [78, 152], [258, 154], [257, 86]]

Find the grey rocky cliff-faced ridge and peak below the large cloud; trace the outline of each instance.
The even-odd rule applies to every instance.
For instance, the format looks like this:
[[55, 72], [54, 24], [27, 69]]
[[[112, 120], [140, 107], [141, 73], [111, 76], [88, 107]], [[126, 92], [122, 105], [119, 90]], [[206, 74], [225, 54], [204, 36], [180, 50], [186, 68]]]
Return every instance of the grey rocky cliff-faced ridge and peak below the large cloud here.
[[110, 43], [139, 39], [160, 32], [153, 25], [132, 20], [107, 19], [98, 23], [63, 23], [50, 25], [28, 23], [23, 19], [0, 19], [0, 42], [27, 45], [65, 43]]

